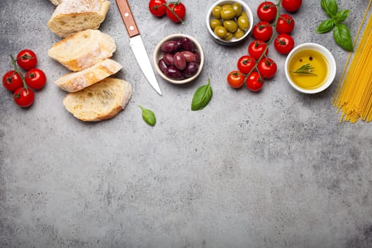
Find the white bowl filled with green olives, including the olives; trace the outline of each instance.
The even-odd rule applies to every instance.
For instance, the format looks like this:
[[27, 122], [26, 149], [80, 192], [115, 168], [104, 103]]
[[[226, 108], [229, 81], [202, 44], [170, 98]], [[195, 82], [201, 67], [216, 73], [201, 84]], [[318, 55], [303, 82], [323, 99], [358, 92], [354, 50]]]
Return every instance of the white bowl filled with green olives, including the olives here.
[[248, 38], [253, 28], [252, 10], [241, 0], [219, 0], [210, 6], [206, 25], [216, 43], [237, 45]]

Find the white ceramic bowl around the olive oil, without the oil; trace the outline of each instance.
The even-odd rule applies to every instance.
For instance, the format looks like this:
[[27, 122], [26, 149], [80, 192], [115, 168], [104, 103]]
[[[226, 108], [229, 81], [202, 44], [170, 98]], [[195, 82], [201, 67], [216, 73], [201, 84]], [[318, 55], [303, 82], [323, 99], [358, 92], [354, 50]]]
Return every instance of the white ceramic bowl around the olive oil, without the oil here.
[[[302, 87], [298, 86], [293, 82], [293, 80], [290, 77], [290, 69], [289, 64], [292, 60], [292, 58], [300, 51], [303, 50], [315, 50], [317, 52], [320, 52], [325, 59], [327, 60], [328, 63], [328, 74], [325, 79], [325, 83], [317, 87], [316, 89], [303, 89]], [[319, 93], [320, 91], [324, 91], [329, 87], [329, 85], [332, 84], [334, 77], [336, 76], [336, 62], [334, 61], [334, 57], [327, 48], [323, 47], [322, 45], [319, 45], [317, 43], [303, 43], [301, 45], [298, 45], [297, 47], [293, 48], [291, 52], [288, 54], [286, 58], [286, 64], [285, 64], [285, 72], [286, 72], [286, 78], [293, 87], [293, 89], [296, 89], [297, 91], [300, 91], [305, 94], [316, 94]]]

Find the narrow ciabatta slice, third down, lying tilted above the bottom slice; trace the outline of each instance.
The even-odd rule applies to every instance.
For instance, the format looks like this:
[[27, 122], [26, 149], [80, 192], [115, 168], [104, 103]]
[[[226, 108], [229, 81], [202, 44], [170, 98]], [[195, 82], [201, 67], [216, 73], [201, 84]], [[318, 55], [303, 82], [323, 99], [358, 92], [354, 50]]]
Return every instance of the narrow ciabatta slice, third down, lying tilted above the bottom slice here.
[[55, 84], [67, 92], [76, 92], [118, 72], [123, 66], [111, 59], [103, 60], [80, 72], [64, 74]]

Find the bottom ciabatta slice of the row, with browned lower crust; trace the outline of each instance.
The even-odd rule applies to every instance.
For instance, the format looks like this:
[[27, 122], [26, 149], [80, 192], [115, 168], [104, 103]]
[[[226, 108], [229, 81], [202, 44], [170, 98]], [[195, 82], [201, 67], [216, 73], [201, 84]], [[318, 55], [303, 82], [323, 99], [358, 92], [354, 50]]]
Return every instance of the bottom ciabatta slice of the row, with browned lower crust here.
[[106, 78], [63, 99], [64, 107], [76, 118], [100, 121], [113, 118], [127, 105], [132, 86], [122, 79]]

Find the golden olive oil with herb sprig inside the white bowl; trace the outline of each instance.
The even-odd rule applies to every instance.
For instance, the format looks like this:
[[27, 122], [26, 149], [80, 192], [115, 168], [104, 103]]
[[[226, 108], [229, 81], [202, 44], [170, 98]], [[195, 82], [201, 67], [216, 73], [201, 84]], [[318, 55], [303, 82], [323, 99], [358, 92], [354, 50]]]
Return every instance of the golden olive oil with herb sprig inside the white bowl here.
[[[308, 65], [306, 71], [296, 70]], [[306, 68], [306, 66], [305, 66]], [[317, 89], [327, 81], [329, 65], [322, 53], [316, 50], [301, 50], [288, 63], [288, 71], [292, 81], [302, 89]]]

